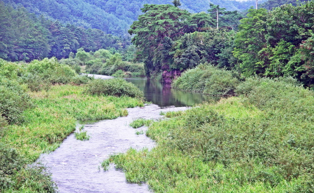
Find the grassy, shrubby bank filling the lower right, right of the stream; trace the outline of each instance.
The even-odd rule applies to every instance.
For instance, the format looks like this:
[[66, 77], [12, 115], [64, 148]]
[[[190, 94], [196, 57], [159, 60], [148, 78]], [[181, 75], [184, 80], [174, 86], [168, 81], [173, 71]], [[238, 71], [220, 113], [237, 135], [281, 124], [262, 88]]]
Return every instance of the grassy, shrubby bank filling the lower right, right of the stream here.
[[249, 78], [237, 93], [166, 113], [146, 132], [156, 147], [103, 165], [154, 192], [313, 192], [313, 92], [289, 78]]

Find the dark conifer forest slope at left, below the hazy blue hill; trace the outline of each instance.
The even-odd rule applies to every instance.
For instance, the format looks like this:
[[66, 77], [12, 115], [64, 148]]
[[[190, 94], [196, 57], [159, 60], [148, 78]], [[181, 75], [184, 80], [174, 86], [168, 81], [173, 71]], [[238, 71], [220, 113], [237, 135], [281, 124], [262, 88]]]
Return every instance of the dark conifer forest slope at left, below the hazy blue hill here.
[[98, 29], [67, 24], [36, 17], [24, 7], [14, 9], [0, 2], [0, 58], [9, 61], [31, 61], [46, 57], [68, 57], [78, 48], [96, 51], [111, 47], [121, 49], [129, 37], [105, 34]]

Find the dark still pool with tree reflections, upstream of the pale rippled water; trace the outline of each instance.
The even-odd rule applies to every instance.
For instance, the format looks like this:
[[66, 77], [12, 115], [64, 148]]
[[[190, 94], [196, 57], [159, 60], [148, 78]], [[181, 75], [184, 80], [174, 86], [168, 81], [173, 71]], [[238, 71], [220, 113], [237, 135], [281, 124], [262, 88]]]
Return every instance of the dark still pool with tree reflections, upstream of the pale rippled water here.
[[163, 84], [159, 81], [143, 77], [128, 77], [125, 79], [137, 85], [144, 92], [144, 97], [147, 101], [161, 108], [169, 106], [193, 106], [204, 101], [217, 101], [220, 99], [219, 97], [212, 97], [201, 93], [172, 89], [170, 84]]

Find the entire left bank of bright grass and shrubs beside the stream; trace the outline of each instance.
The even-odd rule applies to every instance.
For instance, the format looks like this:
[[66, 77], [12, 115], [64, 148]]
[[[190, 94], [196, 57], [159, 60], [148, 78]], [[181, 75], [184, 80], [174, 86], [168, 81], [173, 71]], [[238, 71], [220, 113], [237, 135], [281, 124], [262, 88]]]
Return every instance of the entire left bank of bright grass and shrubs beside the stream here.
[[[143, 106], [143, 93], [135, 85], [78, 75], [56, 58], [0, 59], [0, 80], [1, 192], [56, 192], [45, 165], [31, 164], [41, 153], [55, 150], [78, 120], [115, 119], [127, 116], [125, 108]], [[103, 82], [103, 90], [94, 92]], [[89, 139], [86, 131], [75, 135]]]

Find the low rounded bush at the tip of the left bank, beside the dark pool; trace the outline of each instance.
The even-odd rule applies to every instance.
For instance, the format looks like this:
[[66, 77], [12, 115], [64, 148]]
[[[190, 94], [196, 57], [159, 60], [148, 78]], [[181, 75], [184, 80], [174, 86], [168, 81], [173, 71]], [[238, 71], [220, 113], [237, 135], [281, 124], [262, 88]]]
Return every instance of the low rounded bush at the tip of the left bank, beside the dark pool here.
[[114, 79], [95, 79], [87, 86], [87, 93], [90, 94], [104, 94], [112, 96], [129, 96], [143, 98], [143, 92], [134, 84], [127, 82], [126, 80], [114, 78]]

